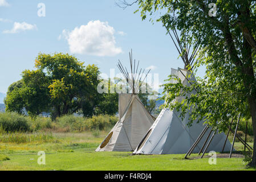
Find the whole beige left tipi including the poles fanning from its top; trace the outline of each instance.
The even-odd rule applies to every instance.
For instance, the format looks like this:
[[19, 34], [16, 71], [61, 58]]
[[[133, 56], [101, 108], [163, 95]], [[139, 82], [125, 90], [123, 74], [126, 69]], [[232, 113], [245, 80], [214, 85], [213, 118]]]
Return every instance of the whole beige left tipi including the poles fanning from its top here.
[[132, 52], [130, 65], [131, 73], [128, 73], [120, 61], [117, 64], [132, 93], [119, 94], [119, 121], [96, 151], [134, 151], [155, 121], [136, 94], [149, 72], [143, 75], [145, 69], [142, 73], [140, 69], [138, 73], [139, 62], [132, 60]]

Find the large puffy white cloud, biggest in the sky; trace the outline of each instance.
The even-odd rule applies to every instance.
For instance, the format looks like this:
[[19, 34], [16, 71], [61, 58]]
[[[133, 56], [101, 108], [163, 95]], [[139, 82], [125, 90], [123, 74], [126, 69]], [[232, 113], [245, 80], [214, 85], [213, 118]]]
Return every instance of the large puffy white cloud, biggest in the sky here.
[[63, 30], [59, 37], [68, 41], [71, 53], [115, 56], [122, 52], [116, 46], [115, 30], [108, 22], [100, 20], [90, 21], [86, 25], [76, 27], [74, 30]]

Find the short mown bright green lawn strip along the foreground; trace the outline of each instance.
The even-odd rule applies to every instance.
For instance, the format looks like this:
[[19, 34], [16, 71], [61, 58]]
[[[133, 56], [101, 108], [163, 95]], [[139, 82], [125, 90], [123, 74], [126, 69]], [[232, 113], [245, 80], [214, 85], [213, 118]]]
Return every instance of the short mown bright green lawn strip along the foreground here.
[[[245, 170], [242, 159], [183, 159], [184, 155], [131, 155], [131, 152], [61, 152], [46, 154], [46, 165], [37, 164], [38, 155], [10, 155], [1, 170]], [[33, 160], [32, 160], [33, 159]]]

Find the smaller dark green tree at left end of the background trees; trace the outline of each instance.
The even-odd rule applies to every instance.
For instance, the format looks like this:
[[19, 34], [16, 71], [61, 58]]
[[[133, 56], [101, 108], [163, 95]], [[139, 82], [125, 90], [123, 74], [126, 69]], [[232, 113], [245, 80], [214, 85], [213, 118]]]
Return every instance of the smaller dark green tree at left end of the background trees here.
[[[31, 117], [47, 111], [47, 78], [39, 71], [23, 71], [22, 80], [9, 86], [5, 100], [6, 111], [17, 111]], [[26, 111], [25, 111], [25, 110]]]

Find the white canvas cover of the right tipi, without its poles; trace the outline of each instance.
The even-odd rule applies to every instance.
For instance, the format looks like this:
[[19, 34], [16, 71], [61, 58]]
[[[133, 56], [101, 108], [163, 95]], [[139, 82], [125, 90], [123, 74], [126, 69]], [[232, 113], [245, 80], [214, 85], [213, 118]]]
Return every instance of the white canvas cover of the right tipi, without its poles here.
[[[189, 86], [189, 80], [196, 81], [196, 78], [185, 69], [172, 69], [172, 75], [177, 75], [183, 85]], [[182, 98], [176, 99], [182, 100]], [[205, 127], [203, 126], [204, 122], [197, 123], [197, 121], [194, 121], [192, 126], [188, 127], [188, 122], [189, 111], [182, 121], [180, 113], [176, 110], [163, 109], [133, 154], [185, 154]], [[206, 131], [193, 152], [200, 151], [209, 132], [210, 130]], [[221, 152], [225, 138], [224, 133], [214, 135], [206, 152]], [[227, 141], [224, 151], [229, 151], [230, 148], [231, 143]]]

